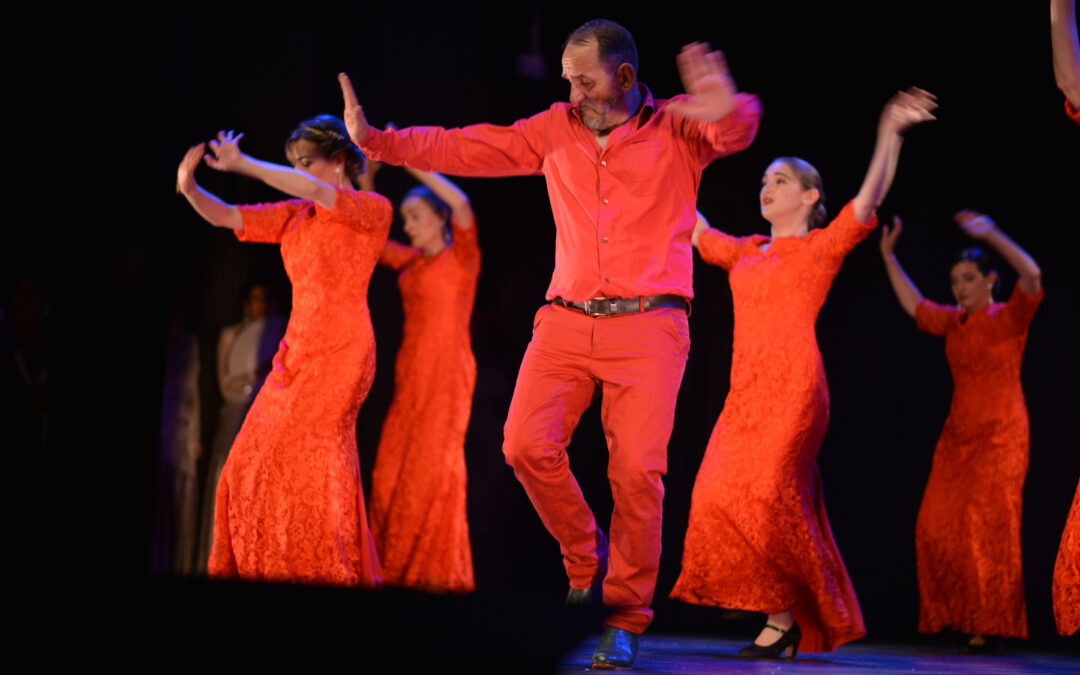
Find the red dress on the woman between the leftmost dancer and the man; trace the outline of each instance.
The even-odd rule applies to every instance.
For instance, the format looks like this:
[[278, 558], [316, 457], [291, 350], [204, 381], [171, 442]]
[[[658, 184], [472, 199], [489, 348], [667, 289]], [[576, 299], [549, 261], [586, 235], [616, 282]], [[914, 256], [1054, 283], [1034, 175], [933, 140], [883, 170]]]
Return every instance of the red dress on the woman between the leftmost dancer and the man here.
[[476, 383], [469, 324], [480, 247], [475, 227], [451, 225], [454, 243], [437, 255], [387, 242], [379, 260], [400, 270], [405, 328], [369, 516], [387, 583], [464, 592], [475, 588], [464, 444]]

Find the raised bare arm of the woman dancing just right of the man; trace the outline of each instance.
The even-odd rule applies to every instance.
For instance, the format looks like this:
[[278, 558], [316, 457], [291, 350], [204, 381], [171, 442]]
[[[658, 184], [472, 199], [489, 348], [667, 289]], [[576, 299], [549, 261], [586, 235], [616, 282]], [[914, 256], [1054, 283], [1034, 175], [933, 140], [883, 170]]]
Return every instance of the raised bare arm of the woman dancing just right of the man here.
[[874, 146], [870, 166], [853, 203], [859, 222], [866, 222], [889, 192], [896, 173], [904, 132], [915, 124], [935, 119], [931, 112], [936, 107], [936, 97], [917, 86], [897, 92], [886, 104], [878, 123], [877, 144]]

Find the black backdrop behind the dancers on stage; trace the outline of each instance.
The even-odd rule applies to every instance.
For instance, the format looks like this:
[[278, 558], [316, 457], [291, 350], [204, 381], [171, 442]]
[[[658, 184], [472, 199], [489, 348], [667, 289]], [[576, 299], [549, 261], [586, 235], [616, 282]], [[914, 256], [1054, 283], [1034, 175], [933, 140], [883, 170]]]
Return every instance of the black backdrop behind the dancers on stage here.
[[[203, 222], [174, 193], [185, 149], [219, 129], [245, 132], [242, 147], [284, 161], [301, 119], [341, 113], [335, 79], [352, 77], [368, 119], [381, 126], [511, 123], [564, 100], [558, 59], [565, 36], [596, 15], [635, 36], [639, 78], [657, 97], [681, 92], [679, 48], [723, 49], [741, 91], [760, 96], [764, 118], [745, 151], [702, 178], [699, 208], [734, 234], [768, 232], [757, 192], [769, 161], [796, 154], [825, 180], [829, 213], [858, 191], [878, 112], [912, 84], [939, 96], [939, 120], [905, 143], [880, 217], [904, 217], [897, 255], [923, 294], [950, 301], [949, 260], [969, 244], [951, 214], [990, 214], [1043, 271], [1045, 299], [1031, 325], [1023, 380], [1031, 420], [1024, 491], [1024, 566], [1031, 638], [1056, 636], [1050, 581], [1080, 478], [1077, 432], [1076, 242], [1080, 129], [1054, 86], [1048, 11], [1015, 3], [1008, 14], [980, 2], [860, 3], [826, 8], [460, 2], [362, 4], [310, 1], [176, 2], [65, 16], [63, 70], [25, 77], [27, 92], [64, 122], [63, 171], [77, 188], [30, 204], [53, 220], [17, 221], [4, 246], [3, 301], [19, 276], [49, 270], [55, 308], [56, 375], [48, 467], [62, 476], [42, 495], [45, 516], [24, 523], [58, 573], [79, 580], [147, 575], [156, 440], [167, 299], [191, 298], [190, 326], [203, 354], [204, 445], [219, 399], [213, 354], [220, 328], [240, 319], [243, 285], [262, 279], [287, 299], [275, 247], [240, 244]], [[521, 75], [523, 56], [542, 78]], [[17, 56], [17, 55], [16, 55]], [[72, 77], [73, 76], [73, 77]], [[23, 82], [22, 79], [18, 80]], [[32, 120], [31, 120], [32, 121]], [[32, 123], [15, 141], [36, 141]], [[280, 199], [249, 179], [200, 168], [200, 183], [233, 203]], [[484, 255], [473, 318], [478, 377], [467, 443], [469, 512], [481, 590], [529, 589], [557, 596], [565, 575], [557, 544], [501, 456], [501, 426], [543, 301], [554, 228], [539, 177], [457, 181], [472, 199]], [[70, 185], [70, 184], [69, 184]], [[396, 204], [411, 186], [386, 167], [378, 189]], [[391, 237], [402, 239], [400, 219]], [[889, 287], [878, 234], [848, 257], [821, 312], [818, 335], [832, 394], [819, 458], [829, 519], [870, 637], [915, 634], [915, 516], [944, 422], [950, 378], [939, 338], [920, 334]], [[1015, 274], [1002, 270], [1005, 294]], [[690, 490], [728, 387], [731, 300], [726, 274], [699, 264], [692, 349], [669, 446], [664, 551], [656, 631], [724, 631], [717, 612], [666, 599], [678, 573]], [[378, 373], [360, 419], [365, 487], [393, 389], [402, 313], [395, 279], [370, 286]], [[573, 470], [606, 527], [610, 492], [595, 409], [569, 447]], [[52, 499], [59, 492], [64, 499]], [[54, 511], [54, 508], [56, 509]], [[68, 542], [75, 542], [69, 544]], [[39, 549], [41, 551], [48, 549]]]

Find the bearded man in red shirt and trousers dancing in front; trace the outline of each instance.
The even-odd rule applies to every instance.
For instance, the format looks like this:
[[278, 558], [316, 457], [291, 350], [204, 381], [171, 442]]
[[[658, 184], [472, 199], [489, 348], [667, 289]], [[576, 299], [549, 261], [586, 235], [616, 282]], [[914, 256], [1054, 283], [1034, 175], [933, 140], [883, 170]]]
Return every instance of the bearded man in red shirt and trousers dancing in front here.
[[[510, 126], [372, 129], [339, 76], [353, 140], [375, 160], [457, 176], [543, 175], [555, 271], [537, 312], [504, 429], [507, 461], [559, 542], [567, 602], [603, 580], [615, 611], [594, 667], [630, 667], [660, 563], [667, 441], [690, 349], [690, 235], [701, 172], [757, 132], [757, 97], [737, 93], [719, 52], [684, 48], [688, 95], [654, 100], [637, 82], [625, 28], [595, 19], [563, 51], [570, 102]], [[565, 448], [595, 388], [608, 440], [610, 552]], [[609, 554], [610, 553], [610, 554]]]

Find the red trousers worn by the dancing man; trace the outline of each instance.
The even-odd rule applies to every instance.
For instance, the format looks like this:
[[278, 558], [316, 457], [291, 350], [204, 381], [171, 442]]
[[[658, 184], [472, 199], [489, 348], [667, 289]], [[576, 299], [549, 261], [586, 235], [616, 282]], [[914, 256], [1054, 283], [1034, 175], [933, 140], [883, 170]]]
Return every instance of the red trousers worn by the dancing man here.
[[[603, 578], [604, 604], [616, 608], [605, 623], [634, 633], [652, 620], [661, 476], [689, 351], [683, 310], [592, 318], [545, 305], [534, 320], [507, 417], [507, 463], [558, 541], [570, 586], [588, 589]], [[596, 387], [615, 502], [610, 552], [566, 457]]]

